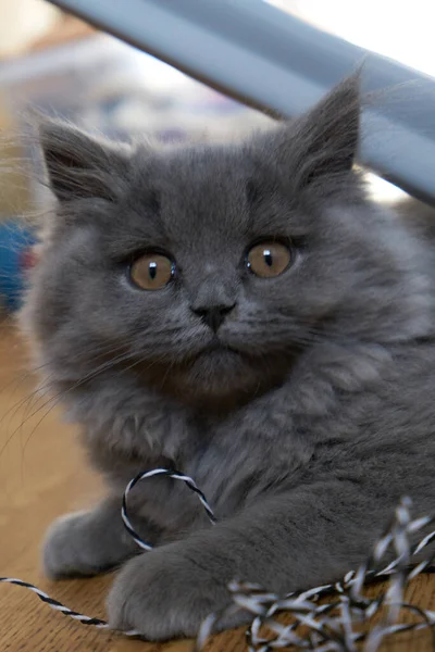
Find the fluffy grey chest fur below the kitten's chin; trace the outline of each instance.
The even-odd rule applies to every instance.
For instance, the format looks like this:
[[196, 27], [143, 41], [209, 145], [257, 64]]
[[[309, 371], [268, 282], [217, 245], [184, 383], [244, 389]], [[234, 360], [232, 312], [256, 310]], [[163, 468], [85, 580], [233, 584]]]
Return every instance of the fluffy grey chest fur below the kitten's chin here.
[[[293, 431], [289, 399], [277, 399], [272, 392], [215, 414], [117, 384], [115, 390], [100, 386], [98, 393], [89, 394], [88, 408], [82, 399], [80, 421], [91, 462], [116, 492], [140, 472], [175, 467], [195, 479], [221, 518], [284, 476], [295, 479], [312, 454], [311, 444]], [[277, 403], [283, 400], [286, 414], [279, 415]], [[197, 497], [181, 482], [152, 478], [135, 493], [136, 507], [159, 525], [178, 530], [198, 519], [207, 524]]]

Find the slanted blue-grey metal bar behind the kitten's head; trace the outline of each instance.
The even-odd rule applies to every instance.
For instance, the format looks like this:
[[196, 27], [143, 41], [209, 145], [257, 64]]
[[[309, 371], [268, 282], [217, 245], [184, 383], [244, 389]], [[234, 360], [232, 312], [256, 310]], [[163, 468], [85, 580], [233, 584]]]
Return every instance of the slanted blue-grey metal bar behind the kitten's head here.
[[364, 60], [363, 90], [403, 86], [366, 111], [360, 161], [435, 205], [435, 80], [262, 0], [51, 0], [226, 95], [294, 116]]

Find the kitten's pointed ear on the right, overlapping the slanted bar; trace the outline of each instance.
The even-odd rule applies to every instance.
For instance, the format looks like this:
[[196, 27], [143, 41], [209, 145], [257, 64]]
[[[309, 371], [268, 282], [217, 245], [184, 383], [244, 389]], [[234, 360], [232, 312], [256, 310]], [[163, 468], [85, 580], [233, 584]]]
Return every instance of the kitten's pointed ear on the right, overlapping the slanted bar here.
[[297, 185], [352, 167], [360, 125], [360, 75], [336, 86], [311, 111], [293, 123], [290, 150]]

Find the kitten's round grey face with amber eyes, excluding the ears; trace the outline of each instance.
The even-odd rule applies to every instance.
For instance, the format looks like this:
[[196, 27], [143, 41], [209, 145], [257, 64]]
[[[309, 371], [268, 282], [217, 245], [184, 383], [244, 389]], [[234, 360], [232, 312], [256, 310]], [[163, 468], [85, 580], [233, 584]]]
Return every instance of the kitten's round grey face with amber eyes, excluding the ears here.
[[315, 280], [289, 199], [276, 185], [259, 201], [248, 156], [138, 152], [120, 200], [88, 202], [45, 254], [51, 338], [66, 327], [74, 356], [77, 341], [119, 347], [144, 378], [189, 393], [282, 374], [316, 312]]

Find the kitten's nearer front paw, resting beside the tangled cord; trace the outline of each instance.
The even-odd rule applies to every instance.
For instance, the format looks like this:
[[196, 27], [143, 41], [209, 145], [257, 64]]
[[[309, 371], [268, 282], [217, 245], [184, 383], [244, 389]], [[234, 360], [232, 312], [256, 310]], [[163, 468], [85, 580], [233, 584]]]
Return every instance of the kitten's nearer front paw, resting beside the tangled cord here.
[[203, 618], [229, 602], [222, 578], [212, 577], [207, 565], [185, 556], [177, 544], [166, 546], [121, 570], [108, 599], [109, 624], [148, 640], [195, 637]]

